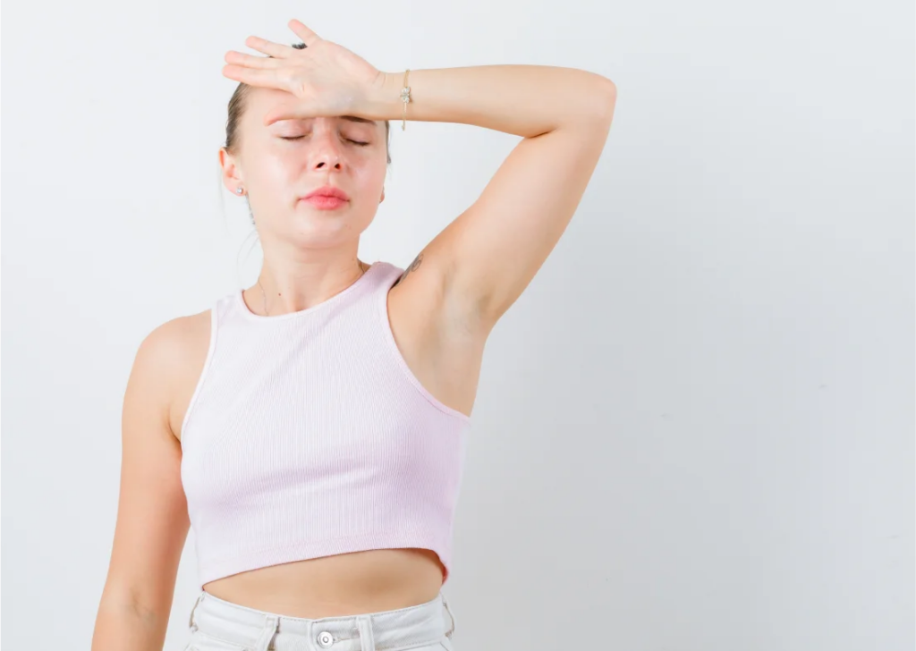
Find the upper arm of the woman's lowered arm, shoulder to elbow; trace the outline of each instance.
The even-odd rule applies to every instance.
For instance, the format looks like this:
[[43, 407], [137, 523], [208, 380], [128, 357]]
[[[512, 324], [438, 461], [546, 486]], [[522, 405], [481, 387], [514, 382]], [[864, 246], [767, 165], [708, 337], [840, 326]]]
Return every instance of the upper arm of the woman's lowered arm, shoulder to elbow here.
[[185, 331], [180, 320], [172, 320], [147, 335], [127, 380], [120, 494], [103, 597], [140, 613], [163, 635], [190, 528], [180, 442], [169, 427]]

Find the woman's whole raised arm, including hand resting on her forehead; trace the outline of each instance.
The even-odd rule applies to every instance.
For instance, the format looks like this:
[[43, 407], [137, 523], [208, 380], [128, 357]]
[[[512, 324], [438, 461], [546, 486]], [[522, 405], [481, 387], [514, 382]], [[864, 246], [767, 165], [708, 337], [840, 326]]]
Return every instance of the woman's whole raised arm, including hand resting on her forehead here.
[[[298, 20], [289, 27], [306, 49], [250, 37], [245, 43], [267, 58], [226, 54], [225, 76], [297, 98], [267, 114], [265, 125], [334, 114], [401, 121], [404, 72], [378, 71]], [[408, 85], [409, 120], [484, 126], [523, 138], [474, 204], [409, 266], [411, 276], [437, 288], [450, 314], [492, 326], [572, 219], [610, 131], [616, 85], [594, 72], [536, 65], [416, 70]]]

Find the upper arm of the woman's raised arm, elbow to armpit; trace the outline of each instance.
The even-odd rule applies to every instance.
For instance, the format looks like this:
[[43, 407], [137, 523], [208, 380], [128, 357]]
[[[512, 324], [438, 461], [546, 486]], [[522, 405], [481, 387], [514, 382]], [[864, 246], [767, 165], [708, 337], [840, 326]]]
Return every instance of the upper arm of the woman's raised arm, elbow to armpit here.
[[616, 102], [610, 80], [594, 114], [512, 150], [477, 201], [425, 250], [448, 300], [486, 327], [512, 305], [560, 240], [605, 146]]

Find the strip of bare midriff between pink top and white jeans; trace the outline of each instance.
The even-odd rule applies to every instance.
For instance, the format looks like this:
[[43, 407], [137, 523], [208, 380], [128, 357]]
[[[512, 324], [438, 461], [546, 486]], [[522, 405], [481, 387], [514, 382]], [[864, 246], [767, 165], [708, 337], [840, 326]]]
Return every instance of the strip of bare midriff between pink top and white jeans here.
[[429, 549], [369, 549], [240, 572], [203, 590], [248, 608], [316, 619], [430, 602], [442, 572]]

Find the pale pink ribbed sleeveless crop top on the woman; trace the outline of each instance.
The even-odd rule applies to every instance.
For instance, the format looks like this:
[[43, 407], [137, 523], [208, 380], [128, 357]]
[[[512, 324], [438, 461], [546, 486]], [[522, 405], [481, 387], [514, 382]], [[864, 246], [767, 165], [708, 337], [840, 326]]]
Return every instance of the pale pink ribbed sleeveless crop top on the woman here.
[[261, 316], [215, 301], [181, 428], [198, 579], [378, 548], [431, 549], [444, 584], [470, 418], [411, 373], [377, 261], [343, 291]]

